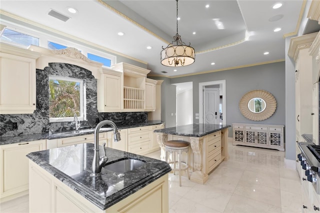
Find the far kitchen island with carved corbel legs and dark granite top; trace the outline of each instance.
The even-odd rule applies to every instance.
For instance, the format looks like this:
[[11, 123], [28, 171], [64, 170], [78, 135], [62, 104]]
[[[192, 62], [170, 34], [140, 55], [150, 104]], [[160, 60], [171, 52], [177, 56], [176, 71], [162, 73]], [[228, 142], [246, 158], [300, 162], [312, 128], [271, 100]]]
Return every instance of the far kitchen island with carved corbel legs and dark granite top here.
[[[228, 159], [227, 137], [231, 125], [193, 123], [156, 129], [157, 142], [161, 148], [161, 160], [165, 160], [167, 140], [185, 140], [190, 143], [190, 180], [205, 183], [208, 173], [221, 161]], [[193, 153], [193, 155], [192, 155]]]

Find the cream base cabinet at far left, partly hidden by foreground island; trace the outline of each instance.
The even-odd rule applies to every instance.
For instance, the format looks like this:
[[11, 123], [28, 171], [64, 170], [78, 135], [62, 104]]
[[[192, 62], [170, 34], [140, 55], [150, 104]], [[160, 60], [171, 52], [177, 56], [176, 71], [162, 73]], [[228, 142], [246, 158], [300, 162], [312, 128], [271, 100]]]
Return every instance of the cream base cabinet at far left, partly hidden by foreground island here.
[[26, 154], [45, 149], [45, 140], [0, 145], [1, 201], [28, 193], [28, 159]]

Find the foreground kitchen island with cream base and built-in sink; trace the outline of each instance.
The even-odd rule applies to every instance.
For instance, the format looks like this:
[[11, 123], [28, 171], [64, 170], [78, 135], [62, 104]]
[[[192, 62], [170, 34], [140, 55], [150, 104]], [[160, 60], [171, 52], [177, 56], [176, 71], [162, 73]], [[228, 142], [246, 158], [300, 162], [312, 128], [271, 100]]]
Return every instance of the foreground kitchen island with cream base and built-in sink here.
[[[136, 169], [101, 169], [92, 177], [93, 144], [81, 143], [27, 154], [30, 212], [167, 212], [168, 172], [161, 160], [107, 148], [108, 163], [138, 159]], [[101, 156], [102, 148], [99, 148]]]

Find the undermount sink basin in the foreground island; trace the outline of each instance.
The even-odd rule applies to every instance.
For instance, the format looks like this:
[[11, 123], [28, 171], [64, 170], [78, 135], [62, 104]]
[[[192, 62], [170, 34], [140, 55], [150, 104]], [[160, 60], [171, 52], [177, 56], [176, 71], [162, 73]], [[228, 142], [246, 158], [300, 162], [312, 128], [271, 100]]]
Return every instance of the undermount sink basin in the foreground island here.
[[146, 162], [138, 159], [125, 158], [119, 161], [111, 161], [104, 165], [103, 167], [107, 170], [125, 173], [127, 171], [132, 171], [144, 165]]

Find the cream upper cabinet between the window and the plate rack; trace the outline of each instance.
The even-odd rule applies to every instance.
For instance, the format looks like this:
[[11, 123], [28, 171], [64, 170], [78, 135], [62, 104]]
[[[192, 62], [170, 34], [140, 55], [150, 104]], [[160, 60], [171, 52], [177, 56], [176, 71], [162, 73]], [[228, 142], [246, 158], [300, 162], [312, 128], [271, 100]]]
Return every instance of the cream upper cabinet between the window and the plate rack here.
[[97, 80], [97, 107], [99, 112], [121, 111], [123, 108], [123, 73], [112, 69], [102, 69]]

